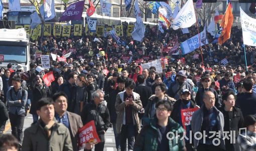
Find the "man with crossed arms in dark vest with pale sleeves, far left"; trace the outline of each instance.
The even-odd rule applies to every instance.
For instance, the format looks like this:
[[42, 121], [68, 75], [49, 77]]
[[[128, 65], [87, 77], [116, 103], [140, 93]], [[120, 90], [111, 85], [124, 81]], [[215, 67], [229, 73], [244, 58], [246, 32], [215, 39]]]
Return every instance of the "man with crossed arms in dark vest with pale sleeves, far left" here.
[[23, 139], [25, 104], [28, 98], [28, 91], [21, 87], [21, 81], [19, 74], [14, 75], [12, 77], [13, 87], [7, 91], [7, 105], [9, 107], [12, 134], [20, 143]]

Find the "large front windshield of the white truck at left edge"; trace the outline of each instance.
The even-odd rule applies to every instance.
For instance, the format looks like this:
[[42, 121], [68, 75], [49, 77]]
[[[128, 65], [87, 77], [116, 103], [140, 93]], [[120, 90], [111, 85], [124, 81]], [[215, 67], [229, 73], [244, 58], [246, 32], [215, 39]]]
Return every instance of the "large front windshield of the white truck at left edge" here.
[[26, 63], [27, 47], [26, 46], [11, 46], [0, 45], [0, 52], [4, 54], [4, 62], [18, 61], [20, 63]]

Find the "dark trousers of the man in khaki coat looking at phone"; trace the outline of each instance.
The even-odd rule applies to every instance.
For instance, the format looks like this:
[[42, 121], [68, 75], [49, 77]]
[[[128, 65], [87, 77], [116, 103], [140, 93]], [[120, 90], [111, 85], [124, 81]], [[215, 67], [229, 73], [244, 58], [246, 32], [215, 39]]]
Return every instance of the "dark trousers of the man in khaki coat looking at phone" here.
[[136, 127], [132, 124], [122, 125], [120, 137], [121, 151], [126, 151], [126, 139], [128, 141], [128, 150], [134, 149], [135, 136], [137, 135]]

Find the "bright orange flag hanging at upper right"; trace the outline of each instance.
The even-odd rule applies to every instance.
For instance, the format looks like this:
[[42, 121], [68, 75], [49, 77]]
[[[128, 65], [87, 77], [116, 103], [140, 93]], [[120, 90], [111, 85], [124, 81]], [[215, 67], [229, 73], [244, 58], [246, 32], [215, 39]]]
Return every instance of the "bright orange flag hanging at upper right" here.
[[218, 38], [219, 44], [224, 43], [227, 39], [230, 38], [230, 33], [231, 33], [231, 27], [233, 24], [233, 13], [232, 13], [232, 6], [231, 3], [229, 2], [226, 12], [224, 16], [221, 19], [220, 26], [223, 28], [220, 37]]

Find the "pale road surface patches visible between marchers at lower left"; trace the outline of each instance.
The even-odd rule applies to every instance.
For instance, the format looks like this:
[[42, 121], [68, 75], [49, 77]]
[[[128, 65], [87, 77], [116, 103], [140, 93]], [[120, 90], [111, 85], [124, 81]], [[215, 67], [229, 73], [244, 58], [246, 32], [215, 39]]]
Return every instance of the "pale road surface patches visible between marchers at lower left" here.
[[[24, 128], [23, 131], [28, 128], [33, 122], [32, 114], [29, 114], [25, 117]], [[5, 133], [12, 133], [10, 121], [7, 121]], [[116, 151], [115, 148], [115, 140], [114, 140], [114, 132], [113, 128], [108, 128], [105, 134], [105, 148], [104, 151]]]

